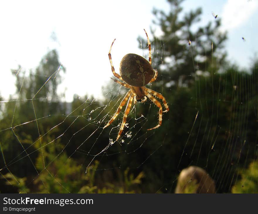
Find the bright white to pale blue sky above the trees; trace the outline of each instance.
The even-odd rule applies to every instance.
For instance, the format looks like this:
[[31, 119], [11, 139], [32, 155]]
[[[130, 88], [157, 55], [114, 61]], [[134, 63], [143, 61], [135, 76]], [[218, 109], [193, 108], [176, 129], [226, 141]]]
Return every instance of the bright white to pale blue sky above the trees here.
[[[221, 30], [228, 32], [228, 59], [240, 67], [250, 65], [258, 50], [258, 0], [186, 0], [182, 6], [184, 12], [202, 7], [200, 25], [214, 21], [212, 13], [218, 15]], [[150, 32], [153, 27], [153, 8], [168, 12], [169, 4], [165, 0], [1, 1], [0, 95], [9, 100], [15, 93], [11, 70], [18, 64], [28, 75], [55, 48], [67, 69], [58, 89], [65, 91], [65, 100], [72, 101], [74, 94], [101, 97], [102, 86], [111, 83], [108, 51], [113, 39], [111, 54], [118, 72], [125, 54], [144, 55], [137, 38], [145, 37], [143, 28]], [[149, 37], [152, 41], [150, 33]]]

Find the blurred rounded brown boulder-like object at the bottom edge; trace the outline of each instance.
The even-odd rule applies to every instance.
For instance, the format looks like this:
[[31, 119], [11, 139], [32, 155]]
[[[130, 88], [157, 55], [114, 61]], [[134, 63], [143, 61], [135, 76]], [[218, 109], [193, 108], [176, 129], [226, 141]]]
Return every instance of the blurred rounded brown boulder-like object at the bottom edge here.
[[175, 193], [216, 193], [215, 182], [204, 169], [190, 166], [179, 174]]

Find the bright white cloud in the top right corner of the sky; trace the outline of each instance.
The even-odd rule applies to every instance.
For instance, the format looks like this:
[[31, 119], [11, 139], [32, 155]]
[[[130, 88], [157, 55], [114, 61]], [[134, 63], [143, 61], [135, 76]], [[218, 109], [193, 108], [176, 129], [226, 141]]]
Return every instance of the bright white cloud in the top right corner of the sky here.
[[228, 0], [221, 15], [222, 30], [229, 31], [240, 27], [257, 9], [257, 0]]

